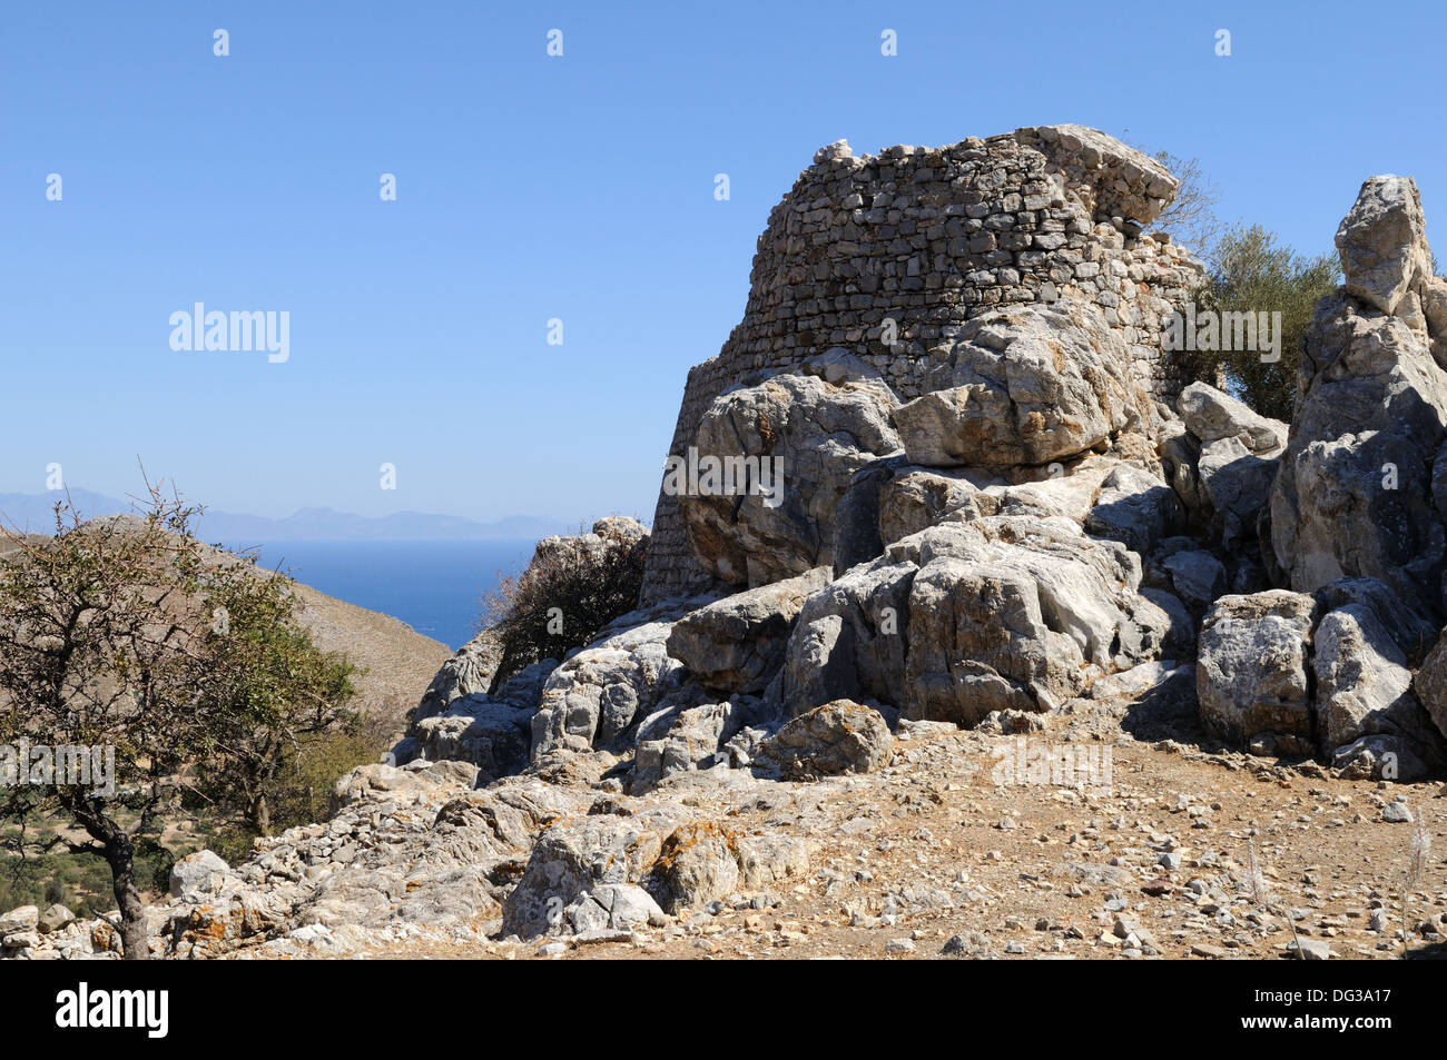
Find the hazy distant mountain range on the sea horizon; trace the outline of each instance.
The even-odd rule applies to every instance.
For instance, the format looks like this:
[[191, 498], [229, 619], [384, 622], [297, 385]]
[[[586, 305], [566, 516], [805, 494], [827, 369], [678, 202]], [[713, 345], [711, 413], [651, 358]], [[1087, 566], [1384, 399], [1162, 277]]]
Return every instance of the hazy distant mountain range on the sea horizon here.
[[[54, 505], [64, 493], [0, 493], [0, 523], [19, 526], [30, 534], [55, 529]], [[91, 490], [72, 489], [71, 500], [85, 519], [123, 515], [133, 510], [129, 500], [117, 500]], [[509, 515], [496, 522], [476, 522], [454, 515], [398, 512], [366, 516], [330, 508], [302, 508], [285, 519], [260, 515], [234, 515], [207, 509], [197, 519], [195, 534], [203, 541], [479, 541], [502, 538], [546, 538], [572, 534], [577, 526], [561, 519], [535, 515]]]

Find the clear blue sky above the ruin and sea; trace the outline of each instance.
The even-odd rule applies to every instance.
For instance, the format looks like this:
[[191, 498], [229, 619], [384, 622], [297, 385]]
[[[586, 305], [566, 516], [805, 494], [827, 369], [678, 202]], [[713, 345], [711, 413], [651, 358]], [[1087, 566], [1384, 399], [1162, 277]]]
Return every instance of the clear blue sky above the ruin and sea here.
[[[10, 3], [0, 492], [54, 461], [124, 495], [139, 456], [258, 515], [650, 518], [684, 373], [820, 145], [1079, 121], [1198, 156], [1302, 252], [1378, 172], [1447, 233], [1444, 30], [1428, 3]], [[288, 311], [289, 362], [172, 351], [197, 301]]]

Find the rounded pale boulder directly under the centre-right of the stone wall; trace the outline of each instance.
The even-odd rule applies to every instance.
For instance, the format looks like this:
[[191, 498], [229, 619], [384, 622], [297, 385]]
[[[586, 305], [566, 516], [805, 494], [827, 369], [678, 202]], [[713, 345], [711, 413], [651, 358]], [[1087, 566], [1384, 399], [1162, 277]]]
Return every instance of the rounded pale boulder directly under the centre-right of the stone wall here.
[[1092, 305], [996, 309], [936, 357], [928, 392], [894, 414], [916, 464], [1045, 464], [1149, 428], [1129, 350]]

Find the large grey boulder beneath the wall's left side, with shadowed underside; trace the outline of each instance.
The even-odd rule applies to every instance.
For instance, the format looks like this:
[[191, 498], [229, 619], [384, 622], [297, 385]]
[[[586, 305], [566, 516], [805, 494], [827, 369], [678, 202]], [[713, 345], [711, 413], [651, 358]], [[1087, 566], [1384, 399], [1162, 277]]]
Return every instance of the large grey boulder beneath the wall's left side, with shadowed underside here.
[[697, 482], [684, 463], [671, 484], [703, 570], [763, 586], [832, 567], [841, 497], [857, 471], [901, 448], [896, 403], [877, 373], [832, 372], [774, 375], [713, 401], [690, 453]]

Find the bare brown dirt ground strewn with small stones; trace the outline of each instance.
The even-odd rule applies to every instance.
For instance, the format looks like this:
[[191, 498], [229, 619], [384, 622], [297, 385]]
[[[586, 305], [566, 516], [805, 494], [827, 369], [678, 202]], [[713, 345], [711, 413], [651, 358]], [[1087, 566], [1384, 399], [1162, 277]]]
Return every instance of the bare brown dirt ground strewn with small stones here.
[[[1107, 784], [1006, 768], [1037, 748], [1091, 745], [1097, 768], [1110, 748], [1108, 775], [1091, 777]], [[1023, 738], [904, 723], [894, 746], [893, 764], [865, 777], [738, 788], [684, 778], [700, 818], [815, 843], [809, 873], [787, 889], [609, 941], [492, 940], [493, 921], [362, 956], [1286, 959], [1299, 940], [1308, 956], [1324, 944], [1331, 959], [1386, 959], [1404, 952], [1404, 899], [1411, 954], [1447, 952], [1440, 782], [1338, 779], [1311, 764], [1136, 742], [1101, 717], [1052, 716]], [[1385, 820], [1399, 800], [1412, 820]], [[1431, 849], [1418, 850], [1408, 886], [1424, 836]]]

